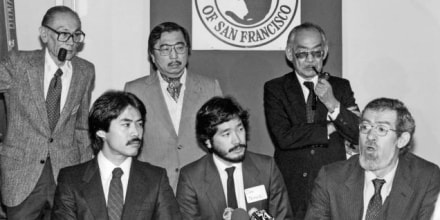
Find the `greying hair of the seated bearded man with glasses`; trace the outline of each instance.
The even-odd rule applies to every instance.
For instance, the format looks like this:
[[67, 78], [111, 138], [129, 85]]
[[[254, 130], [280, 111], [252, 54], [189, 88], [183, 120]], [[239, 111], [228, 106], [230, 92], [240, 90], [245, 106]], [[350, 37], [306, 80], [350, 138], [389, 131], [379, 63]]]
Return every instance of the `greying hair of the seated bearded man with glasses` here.
[[391, 110], [396, 111], [397, 113], [397, 121], [396, 121], [396, 133], [397, 136], [400, 137], [402, 133], [408, 132], [410, 134], [410, 141], [408, 144], [400, 149], [401, 153], [407, 152], [411, 149], [413, 145], [413, 135], [416, 129], [416, 124], [414, 118], [409, 112], [408, 108], [398, 99], [390, 99], [390, 98], [378, 98], [369, 102], [367, 106], [365, 106], [362, 111], [362, 116], [364, 115], [366, 110], [374, 110], [374, 111], [385, 111]]

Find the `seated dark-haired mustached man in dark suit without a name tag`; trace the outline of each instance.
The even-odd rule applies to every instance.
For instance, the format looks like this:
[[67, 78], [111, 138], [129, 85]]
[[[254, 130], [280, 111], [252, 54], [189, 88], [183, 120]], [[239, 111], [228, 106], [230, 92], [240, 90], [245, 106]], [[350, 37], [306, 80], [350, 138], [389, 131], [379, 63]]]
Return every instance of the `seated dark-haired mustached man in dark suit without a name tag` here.
[[134, 158], [146, 113], [127, 92], [109, 91], [95, 101], [89, 126], [97, 156], [60, 171], [52, 219], [180, 219], [165, 169]]

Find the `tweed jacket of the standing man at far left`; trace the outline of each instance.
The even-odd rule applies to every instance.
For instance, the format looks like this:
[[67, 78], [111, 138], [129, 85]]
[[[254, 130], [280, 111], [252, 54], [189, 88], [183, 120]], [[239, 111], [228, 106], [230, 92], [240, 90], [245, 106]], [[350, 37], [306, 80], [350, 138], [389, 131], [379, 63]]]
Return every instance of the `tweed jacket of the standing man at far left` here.
[[[8, 131], [0, 144], [3, 203], [16, 206], [32, 192], [48, 154], [54, 176], [62, 167], [92, 158], [88, 114], [95, 79], [93, 64], [72, 59], [72, 81], [60, 118], [51, 132], [44, 94], [44, 50], [17, 52], [0, 63]], [[41, 161], [41, 162], [40, 162]]]

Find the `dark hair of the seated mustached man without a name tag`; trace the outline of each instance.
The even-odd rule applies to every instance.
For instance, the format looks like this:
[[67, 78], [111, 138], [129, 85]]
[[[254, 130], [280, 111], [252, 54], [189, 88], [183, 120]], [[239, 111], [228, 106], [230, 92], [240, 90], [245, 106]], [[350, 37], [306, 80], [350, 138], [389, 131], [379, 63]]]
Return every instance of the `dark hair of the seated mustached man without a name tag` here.
[[89, 113], [89, 135], [92, 149], [97, 154], [103, 146], [101, 137], [96, 135], [99, 130], [108, 131], [110, 123], [128, 107], [137, 109], [145, 122], [147, 110], [135, 95], [123, 91], [107, 91], [93, 103]]

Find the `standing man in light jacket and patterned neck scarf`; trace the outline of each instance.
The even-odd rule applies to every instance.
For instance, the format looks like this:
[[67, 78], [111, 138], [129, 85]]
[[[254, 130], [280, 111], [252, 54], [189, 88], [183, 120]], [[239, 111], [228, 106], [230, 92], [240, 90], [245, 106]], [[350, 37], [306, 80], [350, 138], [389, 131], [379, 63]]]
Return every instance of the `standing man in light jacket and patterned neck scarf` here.
[[125, 90], [138, 96], [148, 111], [139, 160], [166, 168], [175, 192], [180, 168], [205, 154], [194, 135], [197, 109], [222, 91], [217, 80], [187, 70], [191, 41], [178, 24], [154, 27], [148, 52], [155, 71], [128, 82]]

